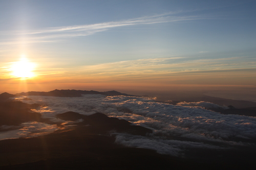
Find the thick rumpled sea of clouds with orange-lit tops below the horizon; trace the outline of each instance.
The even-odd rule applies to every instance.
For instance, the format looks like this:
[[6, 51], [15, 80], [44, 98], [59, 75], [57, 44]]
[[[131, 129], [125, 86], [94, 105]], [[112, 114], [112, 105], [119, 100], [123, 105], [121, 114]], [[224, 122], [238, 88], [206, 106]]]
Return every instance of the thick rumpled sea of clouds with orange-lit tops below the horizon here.
[[[24, 100], [26, 98], [31, 100]], [[16, 100], [40, 104], [41, 107], [34, 111], [53, 122], [64, 122], [55, 116], [67, 111], [84, 115], [101, 112], [110, 117], [128, 120], [134, 125], [152, 129], [153, 134], [139, 136], [113, 132], [117, 143], [127, 147], [153, 149], [173, 156], [181, 156], [191, 148], [225, 150], [252, 145], [253, 142], [250, 141], [256, 139], [256, 117], [223, 115], [206, 110], [221, 107], [208, 102], [179, 103], [175, 106], [135, 96], [100, 94], [87, 94], [79, 98], [22, 96]], [[33, 122], [22, 125], [19, 130], [2, 133], [7, 135], [9, 132], [15, 138], [17, 131], [16, 137], [24, 137], [35, 136], [39, 132], [46, 134], [57, 129], [55, 125]]]

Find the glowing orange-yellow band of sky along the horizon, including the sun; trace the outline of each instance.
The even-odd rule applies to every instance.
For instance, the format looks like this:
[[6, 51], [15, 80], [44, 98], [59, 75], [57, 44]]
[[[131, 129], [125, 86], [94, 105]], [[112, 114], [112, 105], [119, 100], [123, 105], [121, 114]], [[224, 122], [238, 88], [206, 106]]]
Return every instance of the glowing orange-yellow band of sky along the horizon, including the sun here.
[[[143, 95], [152, 93], [152, 91], [156, 93], [177, 90], [232, 90], [236, 92], [242, 89], [242, 92], [251, 91], [251, 93], [246, 93], [248, 98], [251, 98], [250, 95], [254, 95], [255, 86], [253, 84], [256, 84], [256, 81], [253, 71], [250, 69], [211, 68], [204, 71], [188, 71], [180, 69], [184, 65], [191, 66], [188, 62], [168, 64], [163, 62], [165, 60], [169, 59], [124, 61], [78, 68], [49, 68], [47, 62], [36, 62], [36, 59], [30, 61], [23, 55], [18, 61], [9, 62], [5, 64], [6, 67], [2, 68], [4, 74], [2, 74], [1, 92], [77, 89], [117, 90]], [[204, 64], [207, 62], [212, 61], [204, 61]], [[194, 62], [193, 66], [200, 63], [202, 61]], [[170, 66], [173, 67], [168, 68]], [[25, 69], [27, 67], [31, 68]], [[159, 71], [160, 67], [164, 69]], [[30, 75], [33, 76], [30, 77]]]

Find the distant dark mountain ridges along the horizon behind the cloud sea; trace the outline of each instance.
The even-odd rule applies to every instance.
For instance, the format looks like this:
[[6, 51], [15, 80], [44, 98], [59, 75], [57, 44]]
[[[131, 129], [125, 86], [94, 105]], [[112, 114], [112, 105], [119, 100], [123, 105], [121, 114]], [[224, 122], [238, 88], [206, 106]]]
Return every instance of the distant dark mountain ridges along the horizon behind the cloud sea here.
[[[115, 90], [112, 91], [88, 91], [88, 90], [52, 90], [52, 91], [29, 91], [29, 92], [21, 92], [16, 94], [9, 94], [7, 92], [4, 92], [0, 94], [0, 102], [6, 101], [9, 98], [14, 98], [15, 96], [21, 96], [21, 95], [42, 95], [42, 96], [57, 96], [57, 97], [80, 97], [83, 94], [102, 94], [102, 95], [124, 95], [124, 96], [136, 96], [132, 94], [126, 94], [121, 93]], [[146, 97], [147, 95], [143, 95]], [[201, 97], [195, 97], [190, 98], [189, 100], [185, 100], [185, 102], [211, 102], [220, 106], [230, 106], [229, 109], [225, 110], [214, 110], [217, 112], [220, 112], [222, 114], [238, 114], [238, 115], [246, 115], [246, 116], [256, 116], [256, 103], [255, 102], [249, 102], [249, 101], [239, 101], [239, 100], [231, 100], [231, 99], [223, 99], [223, 98], [215, 98], [211, 96], [201, 96]], [[159, 101], [162, 102], [162, 101]], [[181, 101], [167, 101], [164, 103], [169, 103], [176, 105]]]

